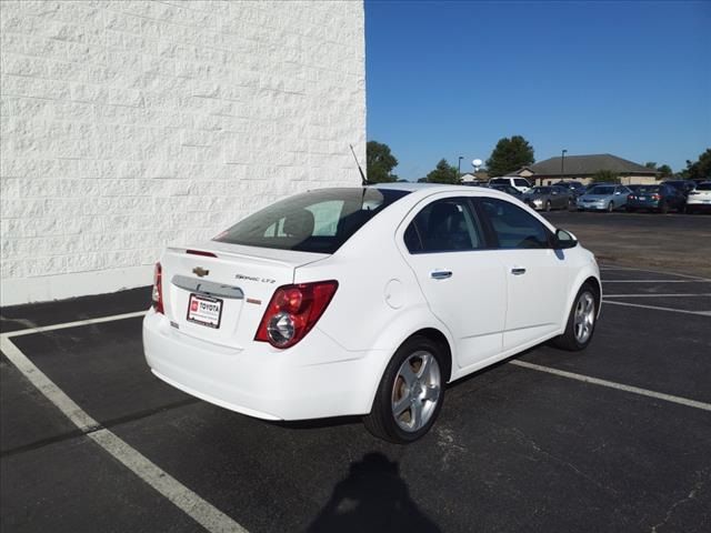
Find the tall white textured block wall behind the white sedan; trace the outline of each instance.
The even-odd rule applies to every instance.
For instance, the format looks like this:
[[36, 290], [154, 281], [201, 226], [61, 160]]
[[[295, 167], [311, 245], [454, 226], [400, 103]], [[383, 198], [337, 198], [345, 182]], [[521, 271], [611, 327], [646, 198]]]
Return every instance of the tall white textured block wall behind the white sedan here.
[[151, 283], [168, 243], [360, 183], [361, 1], [2, 1], [1, 304]]

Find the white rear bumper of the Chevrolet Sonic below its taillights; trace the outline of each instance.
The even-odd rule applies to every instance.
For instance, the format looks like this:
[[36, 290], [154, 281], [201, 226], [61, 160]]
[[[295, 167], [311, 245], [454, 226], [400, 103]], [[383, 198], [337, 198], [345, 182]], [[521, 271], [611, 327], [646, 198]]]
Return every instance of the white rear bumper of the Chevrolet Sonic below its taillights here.
[[[228, 349], [187, 335], [164, 315], [149, 311], [143, 350], [151, 371], [170, 385], [264, 420], [368, 413], [373, 380], [380, 378], [371, 370], [379, 354], [346, 351], [318, 329], [288, 350], [262, 342], [248, 350]], [[304, 356], [314, 350], [328, 360]]]

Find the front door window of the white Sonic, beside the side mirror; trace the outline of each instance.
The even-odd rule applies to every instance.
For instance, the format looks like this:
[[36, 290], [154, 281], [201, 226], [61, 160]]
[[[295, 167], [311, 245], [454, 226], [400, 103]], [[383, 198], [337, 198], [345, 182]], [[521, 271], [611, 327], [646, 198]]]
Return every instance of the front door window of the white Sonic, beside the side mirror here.
[[530, 213], [497, 198], [482, 198], [479, 205], [499, 241], [500, 249], [544, 249], [549, 232]]

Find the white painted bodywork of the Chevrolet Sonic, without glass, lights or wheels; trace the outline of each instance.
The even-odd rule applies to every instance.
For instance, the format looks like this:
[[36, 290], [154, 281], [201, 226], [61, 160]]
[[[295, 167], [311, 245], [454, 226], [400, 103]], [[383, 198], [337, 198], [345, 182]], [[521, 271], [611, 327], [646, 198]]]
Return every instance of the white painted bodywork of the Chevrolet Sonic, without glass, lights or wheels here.
[[[509, 194], [457, 185], [387, 184], [412, 192], [389, 205], [336, 253], [256, 249], [209, 241], [169, 249], [162, 258], [166, 314], [151, 310], [143, 344], [153, 373], [189, 394], [267, 420], [365, 414], [394, 351], [413, 333], [435, 330], [451, 352], [457, 380], [555, 336], [565, 328], [581, 284], [599, 270], [578, 245], [567, 250], [470, 250], [411, 254], [402, 235], [429, 202], [447, 197], [494, 197], [555, 229]], [[186, 253], [212, 251], [218, 258]], [[530, 253], [535, 252], [535, 253]], [[204, 280], [236, 284], [220, 329], [186, 320], [188, 295], [172, 283], [192, 269]], [[525, 268], [523, 275], [512, 268]], [[435, 280], [434, 270], [452, 276]], [[283, 284], [337, 280], [338, 290], [316, 326], [281, 350], [254, 341], [264, 310]]]

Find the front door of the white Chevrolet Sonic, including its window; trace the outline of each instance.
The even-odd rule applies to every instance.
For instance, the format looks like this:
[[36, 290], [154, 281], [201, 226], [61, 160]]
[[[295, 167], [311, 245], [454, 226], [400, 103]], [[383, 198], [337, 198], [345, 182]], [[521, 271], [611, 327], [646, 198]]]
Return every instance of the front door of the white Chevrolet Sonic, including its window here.
[[551, 248], [550, 231], [522, 208], [485, 197], [475, 204], [495, 240], [507, 278], [504, 350], [557, 331], [569, 284], [564, 251]]

